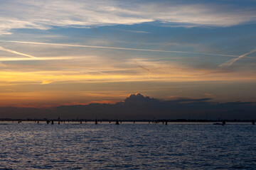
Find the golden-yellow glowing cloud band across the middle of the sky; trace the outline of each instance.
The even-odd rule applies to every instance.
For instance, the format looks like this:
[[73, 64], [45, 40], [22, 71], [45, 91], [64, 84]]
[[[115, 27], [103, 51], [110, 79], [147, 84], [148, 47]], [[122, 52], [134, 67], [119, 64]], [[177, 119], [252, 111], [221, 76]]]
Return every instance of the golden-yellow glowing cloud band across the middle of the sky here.
[[[86, 55], [78, 57], [78, 60], [68, 60], [68, 57], [62, 56], [53, 57], [53, 60], [52, 57], [41, 59], [28, 58], [29, 62], [6, 60], [11, 62], [3, 62], [7, 67], [1, 69], [1, 83], [41, 84], [43, 80], [54, 80], [55, 84], [255, 80], [255, 77], [251, 77], [252, 72], [213, 72], [209, 69], [186, 67], [174, 61], [127, 58], [117, 63], [109, 58]], [[138, 64], [145, 69], [139, 68]], [[154, 70], [150, 79], [144, 70], [147, 73]]]

